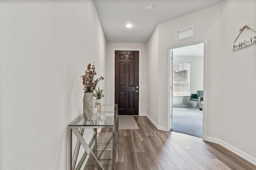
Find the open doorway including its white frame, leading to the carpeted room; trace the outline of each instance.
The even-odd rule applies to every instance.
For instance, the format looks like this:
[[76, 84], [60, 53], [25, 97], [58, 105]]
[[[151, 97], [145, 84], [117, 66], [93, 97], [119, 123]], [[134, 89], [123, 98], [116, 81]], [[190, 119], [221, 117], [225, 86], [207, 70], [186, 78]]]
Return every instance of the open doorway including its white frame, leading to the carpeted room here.
[[[203, 140], [206, 140], [206, 49], [207, 39], [167, 47], [168, 115], [166, 118], [168, 118], [169, 130], [201, 137]], [[204, 92], [202, 111], [197, 104], [193, 107], [194, 101], [190, 101], [190, 94], [196, 94], [197, 91]]]

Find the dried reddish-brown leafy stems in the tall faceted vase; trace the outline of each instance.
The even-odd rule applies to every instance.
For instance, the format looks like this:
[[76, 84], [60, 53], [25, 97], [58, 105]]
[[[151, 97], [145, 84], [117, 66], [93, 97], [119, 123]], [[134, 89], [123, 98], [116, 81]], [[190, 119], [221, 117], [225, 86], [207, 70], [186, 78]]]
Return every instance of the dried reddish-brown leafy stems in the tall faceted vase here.
[[100, 80], [103, 80], [104, 77], [97, 78], [94, 80], [94, 76], [96, 75], [95, 71], [95, 63], [93, 65], [91, 63], [88, 64], [87, 70], [85, 71], [85, 74], [81, 76], [83, 79], [83, 84], [84, 84], [84, 92], [92, 92], [96, 89], [97, 83]]

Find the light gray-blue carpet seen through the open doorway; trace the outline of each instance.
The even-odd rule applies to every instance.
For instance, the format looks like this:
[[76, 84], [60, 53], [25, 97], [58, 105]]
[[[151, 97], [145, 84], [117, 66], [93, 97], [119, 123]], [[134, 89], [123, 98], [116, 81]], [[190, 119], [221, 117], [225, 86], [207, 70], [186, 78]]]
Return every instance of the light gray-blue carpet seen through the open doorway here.
[[173, 107], [172, 113], [172, 131], [202, 138], [202, 110], [198, 107]]

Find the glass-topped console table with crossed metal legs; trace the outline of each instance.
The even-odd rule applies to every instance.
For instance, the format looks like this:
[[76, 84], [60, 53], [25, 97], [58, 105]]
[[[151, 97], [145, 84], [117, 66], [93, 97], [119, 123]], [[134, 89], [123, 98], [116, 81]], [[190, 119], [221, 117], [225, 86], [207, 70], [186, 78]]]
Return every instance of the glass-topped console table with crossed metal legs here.
[[[115, 170], [117, 107], [102, 106], [92, 120], [85, 121], [83, 115], [80, 115], [68, 125], [69, 170]], [[92, 129], [91, 135], [86, 134], [85, 129]]]

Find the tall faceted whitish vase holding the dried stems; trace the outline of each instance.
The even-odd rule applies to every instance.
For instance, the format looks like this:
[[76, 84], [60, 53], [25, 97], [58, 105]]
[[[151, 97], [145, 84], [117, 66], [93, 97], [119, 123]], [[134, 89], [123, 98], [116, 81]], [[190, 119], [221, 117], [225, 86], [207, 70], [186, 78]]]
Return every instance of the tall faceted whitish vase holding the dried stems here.
[[94, 109], [95, 109], [95, 101], [91, 92], [84, 93], [83, 104], [84, 104], [84, 108], [83, 108], [84, 120], [92, 120], [92, 116], [94, 114]]

